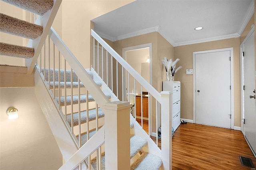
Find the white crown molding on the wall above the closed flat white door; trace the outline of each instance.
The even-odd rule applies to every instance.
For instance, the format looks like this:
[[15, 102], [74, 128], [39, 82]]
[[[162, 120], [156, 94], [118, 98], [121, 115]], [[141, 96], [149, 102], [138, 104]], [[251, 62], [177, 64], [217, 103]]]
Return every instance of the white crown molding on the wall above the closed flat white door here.
[[176, 43], [176, 45], [184, 46], [184, 45], [189, 45], [189, 44], [198, 44], [198, 43], [202, 43], [202, 42], [225, 40], [225, 39], [229, 39], [229, 38], [238, 38], [238, 37], [240, 37], [240, 35], [238, 33], [234, 33], [234, 34], [228, 34], [228, 35], [224, 35], [224, 36], [216, 36], [216, 37], [212, 37], [212, 38], [203, 38], [203, 39], [194, 40], [194, 41], [178, 42], [178, 43]]

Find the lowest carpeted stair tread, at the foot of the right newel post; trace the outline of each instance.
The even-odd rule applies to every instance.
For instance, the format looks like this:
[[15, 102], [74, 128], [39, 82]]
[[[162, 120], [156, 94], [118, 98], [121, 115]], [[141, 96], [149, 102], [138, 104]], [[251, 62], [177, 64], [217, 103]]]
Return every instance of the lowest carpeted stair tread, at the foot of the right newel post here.
[[131, 164], [131, 170], [159, 170], [162, 159], [148, 152], [143, 152], [140, 157]]

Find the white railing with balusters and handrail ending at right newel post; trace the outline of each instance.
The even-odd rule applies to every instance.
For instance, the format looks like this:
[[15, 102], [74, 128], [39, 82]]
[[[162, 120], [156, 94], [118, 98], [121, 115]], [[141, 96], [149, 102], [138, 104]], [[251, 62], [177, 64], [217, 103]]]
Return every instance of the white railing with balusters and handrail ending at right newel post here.
[[[98, 34], [96, 34], [94, 30], [91, 30], [91, 35], [93, 37], [94, 46], [92, 67], [120, 100], [130, 101], [131, 93], [129, 89], [134, 89], [134, 118], [140, 122], [142, 128], [144, 127], [143, 120], [148, 122], [148, 136], [156, 136], [156, 145], [158, 145], [159, 137], [158, 128], [162, 126], [161, 152], [163, 166], [164, 169], [171, 169], [172, 92], [159, 93], [112, 47], [110, 47]], [[130, 81], [132, 81], [133, 87], [130, 87]], [[140, 87], [139, 90], [136, 89], [138, 84]], [[122, 90], [119, 89], [120, 86], [122, 87]], [[145, 89], [147, 96], [142, 95], [145, 93], [143, 89]], [[140, 95], [137, 95], [136, 92], [139, 92]], [[140, 96], [140, 99], [137, 99], [136, 96]], [[143, 108], [142, 96], [148, 98], [148, 108]], [[140, 112], [140, 115], [138, 115], [137, 111]], [[152, 127], [153, 117], [155, 118], [154, 127]]]

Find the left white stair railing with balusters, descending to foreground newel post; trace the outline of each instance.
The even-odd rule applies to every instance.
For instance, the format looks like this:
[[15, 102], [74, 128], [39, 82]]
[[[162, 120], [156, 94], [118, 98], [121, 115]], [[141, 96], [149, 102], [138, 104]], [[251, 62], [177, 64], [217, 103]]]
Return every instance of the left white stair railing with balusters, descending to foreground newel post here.
[[[50, 29], [48, 38], [44, 42], [40, 57], [36, 62], [36, 68], [76, 144], [78, 152], [74, 156], [80, 155], [84, 133], [86, 133], [87, 142], [90, 141], [88, 144], [85, 143], [84, 148], [87, 148], [87, 152], [82, 154], [81, 160], [78, 159], [78, 164], [70, 165], [72, 162], [70, 160], [68, 166], [73, 166], [72, 169], [77, 166], [81, 168], [85, 161], [87, 168], [93, 169], [90, 166], [90, 160], [93, 157], [97, 158], [97, 164], [100, 165], [100, 153], [104, 151], [102, 138], [104, 139], [105, 135], [102, 132], [104, 130], [100, 131], [100, 128], [105, 123], [104, 118], [98, 118], [98, 114], [100, 109], [104, 111], [106, 103], [116, 100], [112, 97], [111, 90], [106, 87], [100, 88], [99, 84], [96, 84], [96, 78], [90, 76], [92, 73], [88, 74], [89, 70], [83, 68], [53, 28]], [[90, 102], [92, 98], [95, 102]], [[77, 99], [77, 102], [73, 102], [73, 99]], [[89, 121], [89, 112], [93, 109], [96, 112], [96, 120]], [[87, 117], [84, 124], [82, 124], [82, 110], [86, 111]], [[71, 119], [68, 120], [68, 117]], [[75, 122], [77, 126], [73, 125]], [[89, 132], [94, 128], [97, 135], [90, 140], [92, 136], [89, 135]], [[91, 145], [92, 142], [93, 145]]]

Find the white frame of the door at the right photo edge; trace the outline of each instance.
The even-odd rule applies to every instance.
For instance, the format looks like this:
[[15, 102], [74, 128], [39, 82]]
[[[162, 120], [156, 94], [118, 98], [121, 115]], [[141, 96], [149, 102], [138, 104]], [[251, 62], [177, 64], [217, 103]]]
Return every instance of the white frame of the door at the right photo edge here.
[[[243, 122], [243, 118], [244, 118], [244, 57], [242, 55], [242, 52], [244, 50], [244, 43], [248, 40], [249, 36], [251, 36], [251, 34], [254, 32], [254, 26], [252, 26], [250, 32], [247, 34], [246, 38], [244, 38], [244, 41], [240, 44], [240, 107], [241, 107], [241, 131], [243, 133], [243, 135], [245, 135], [244, 133], [244, 122]], [[255, 32], [254, 32], [255, 34]]]

